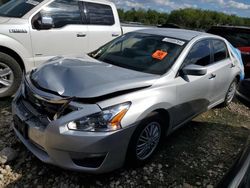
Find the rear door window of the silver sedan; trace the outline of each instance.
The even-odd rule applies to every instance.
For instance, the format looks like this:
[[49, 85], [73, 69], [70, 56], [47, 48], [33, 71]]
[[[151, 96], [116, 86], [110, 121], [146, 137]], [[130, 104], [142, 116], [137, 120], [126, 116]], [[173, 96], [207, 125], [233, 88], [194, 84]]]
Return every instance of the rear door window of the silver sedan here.
[[221, 40], [212, 40], [214, 49], [214, 62], [219, 62], [228, 58], [228, 50], [226, 44]]

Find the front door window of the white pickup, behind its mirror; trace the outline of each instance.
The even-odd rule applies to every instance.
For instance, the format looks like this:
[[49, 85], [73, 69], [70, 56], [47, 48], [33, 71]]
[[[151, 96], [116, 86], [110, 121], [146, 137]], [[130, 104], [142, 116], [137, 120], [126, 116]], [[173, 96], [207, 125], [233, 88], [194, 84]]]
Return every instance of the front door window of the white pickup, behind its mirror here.
[[34, 18], [33, 28], [42, 29], [42, 17], [49, 17], [53, 20], [52, 28], [61, 28], [66, 25], [83, 24], [80, 13], [79, 1], [73, 0], [55, 0], [46, 7], [44, 7]]

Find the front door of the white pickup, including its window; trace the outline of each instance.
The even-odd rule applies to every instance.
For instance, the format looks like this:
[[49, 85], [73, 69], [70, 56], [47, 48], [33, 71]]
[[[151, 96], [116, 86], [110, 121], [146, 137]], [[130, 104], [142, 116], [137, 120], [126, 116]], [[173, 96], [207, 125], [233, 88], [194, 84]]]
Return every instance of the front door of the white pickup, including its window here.
[[[82, 55], [88, 50], [88, 26], [79, 1], [55, 0], [32, 19], [31, 39], [36, 65], [60, 55]], [[39, 28], [42, 17], [53, 20], [51, 29]]]

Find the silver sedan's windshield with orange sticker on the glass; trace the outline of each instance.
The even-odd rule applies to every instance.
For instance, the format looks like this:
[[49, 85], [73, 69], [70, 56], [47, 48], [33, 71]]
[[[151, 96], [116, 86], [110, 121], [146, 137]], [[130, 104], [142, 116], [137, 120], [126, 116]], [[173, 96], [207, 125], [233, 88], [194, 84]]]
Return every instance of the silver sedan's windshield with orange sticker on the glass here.
[[89, 55], [112, 65], [162, 75], [172, 67], [185, 43], [164, 36], [128, 33]]

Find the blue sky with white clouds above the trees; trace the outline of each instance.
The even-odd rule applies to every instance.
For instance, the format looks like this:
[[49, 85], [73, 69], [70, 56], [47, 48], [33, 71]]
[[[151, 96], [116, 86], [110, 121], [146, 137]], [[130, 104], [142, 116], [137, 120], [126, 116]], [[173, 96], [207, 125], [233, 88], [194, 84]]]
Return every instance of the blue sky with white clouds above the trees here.
[[118, 8], [155, 9], [170, 12], [181, 8], [199, 8], [250, 18], [250, 0], [111, 0]]

